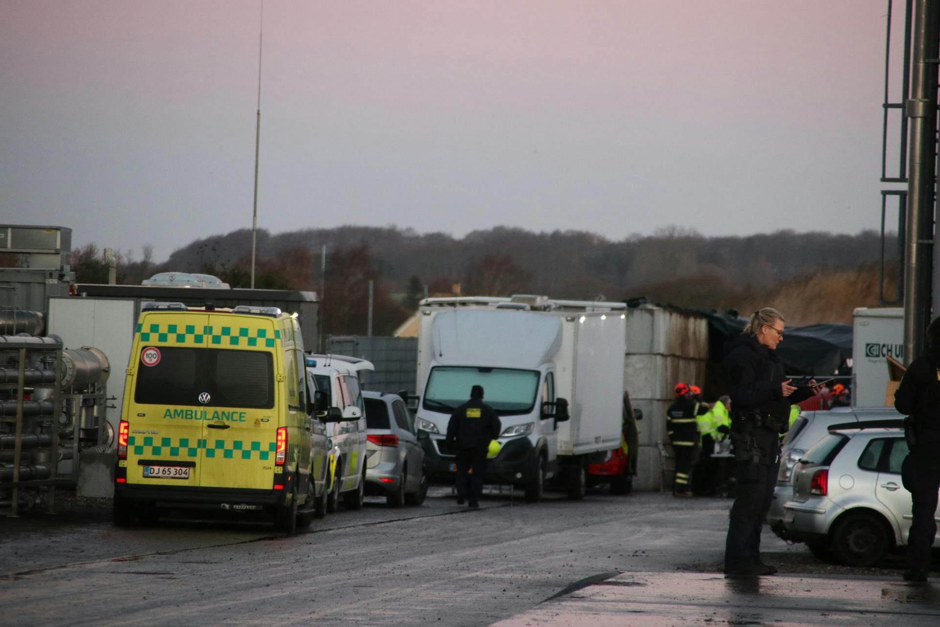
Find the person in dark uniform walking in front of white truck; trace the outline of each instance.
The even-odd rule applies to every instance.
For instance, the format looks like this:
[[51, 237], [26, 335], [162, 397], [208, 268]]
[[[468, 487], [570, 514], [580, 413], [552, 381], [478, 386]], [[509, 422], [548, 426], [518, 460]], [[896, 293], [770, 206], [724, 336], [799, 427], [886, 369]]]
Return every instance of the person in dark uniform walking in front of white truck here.
[[501, 430], [499, 416], [483, 402], [482, 385], [474, 385], [470, 390], [470, 400], [455, 409], [447, 422], [446, 443], [457, 454], [455, 483], [458, 505], [463, 505], [466, 497], [471, 508], [479, 507], [483, 475], [486, 473], [486, 455], [490, 442], [499, 437]]

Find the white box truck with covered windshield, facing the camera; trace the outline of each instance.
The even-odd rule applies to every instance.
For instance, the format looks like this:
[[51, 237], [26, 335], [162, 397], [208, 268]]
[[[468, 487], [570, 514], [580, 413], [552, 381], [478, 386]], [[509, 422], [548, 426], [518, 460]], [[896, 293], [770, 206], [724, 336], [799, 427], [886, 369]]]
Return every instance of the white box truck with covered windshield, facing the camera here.
[[502, 421], [486, 480], [522, 487], [530, 501], [546, 480], [583, 497], [589, 456], [620, 444], [624, 314], [477, 302], [425, 305], [419, 318], [415, 425], [430, 434], [429, 474], [453, 476], [447, 422], [479, 384]]

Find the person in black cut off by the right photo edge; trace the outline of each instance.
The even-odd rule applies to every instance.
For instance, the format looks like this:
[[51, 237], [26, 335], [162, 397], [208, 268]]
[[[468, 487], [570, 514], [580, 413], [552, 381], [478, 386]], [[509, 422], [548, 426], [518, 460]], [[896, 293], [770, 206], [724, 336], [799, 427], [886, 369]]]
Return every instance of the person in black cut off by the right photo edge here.
[[940, 318], [927, 327], [924, 354], [904, 372], [894, 406], [914, 420], [914, 490], [911, 491], [913, 520], [907, 539], [906, 581], [927, 581], [931, 547], [936, 537], [934, 512], [940, 490]]

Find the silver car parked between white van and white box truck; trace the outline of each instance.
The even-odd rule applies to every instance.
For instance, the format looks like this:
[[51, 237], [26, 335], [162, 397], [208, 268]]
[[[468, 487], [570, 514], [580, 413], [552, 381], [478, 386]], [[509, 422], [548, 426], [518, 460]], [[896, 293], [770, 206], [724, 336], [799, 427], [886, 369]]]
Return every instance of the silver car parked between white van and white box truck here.
[[421, 505], [428, 495], [424, 449], [405, 401], [398, 394], [363, 392], [366, 401], [366, 492], [382, 494], [393, 508]]

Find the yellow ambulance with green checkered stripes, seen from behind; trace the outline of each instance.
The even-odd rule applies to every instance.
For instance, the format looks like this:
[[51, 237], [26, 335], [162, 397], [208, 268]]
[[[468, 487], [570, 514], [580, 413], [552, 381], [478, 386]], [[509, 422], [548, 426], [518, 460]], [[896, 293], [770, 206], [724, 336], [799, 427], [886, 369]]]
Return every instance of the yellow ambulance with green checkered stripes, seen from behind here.
[[310, 525], [330, 483], [324, 423], [342, 419], [314, 390], [300, 326], [277, 307], [145, 303], [118, 426], [115, 524], [203, 509], [288, 533]]

